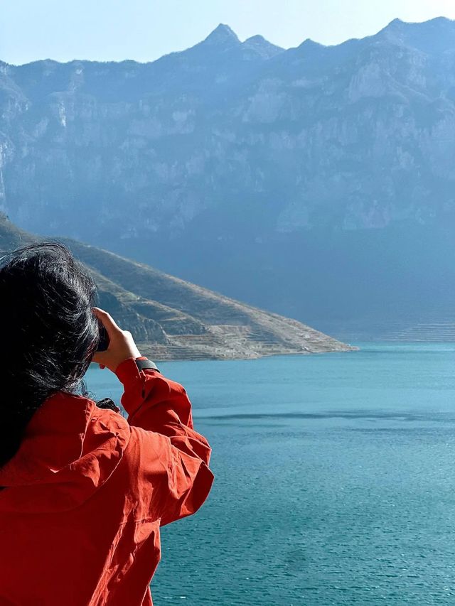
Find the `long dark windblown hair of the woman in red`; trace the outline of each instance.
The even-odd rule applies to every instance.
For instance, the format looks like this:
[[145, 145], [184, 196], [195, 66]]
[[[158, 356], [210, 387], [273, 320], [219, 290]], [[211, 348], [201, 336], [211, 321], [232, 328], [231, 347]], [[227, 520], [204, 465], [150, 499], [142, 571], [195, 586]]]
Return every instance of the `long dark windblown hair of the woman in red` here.
[[96, 297], [92, 277], [63, 244], [31, 244], [1, 259], [0, 466], [45, 399], [80, 389], [100, 338]]

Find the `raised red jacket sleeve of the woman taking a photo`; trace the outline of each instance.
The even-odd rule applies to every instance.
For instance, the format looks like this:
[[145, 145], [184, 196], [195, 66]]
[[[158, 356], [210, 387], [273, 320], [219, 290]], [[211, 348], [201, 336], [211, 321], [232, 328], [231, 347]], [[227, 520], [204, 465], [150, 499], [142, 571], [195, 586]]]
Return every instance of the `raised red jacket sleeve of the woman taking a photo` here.
[[155, 451], [159, 444], [159, 461], [167, 470], [160, 526], [193, 514], [208, 497], [214, 475], [208, 467], [211, 448], [193, 428], [186, 390], [156, 370], [139, 371], [133, 358], [119, 364], [115, 374], [124, 386], [122, 406], [129, 424], [161, 436], [151, 446]]

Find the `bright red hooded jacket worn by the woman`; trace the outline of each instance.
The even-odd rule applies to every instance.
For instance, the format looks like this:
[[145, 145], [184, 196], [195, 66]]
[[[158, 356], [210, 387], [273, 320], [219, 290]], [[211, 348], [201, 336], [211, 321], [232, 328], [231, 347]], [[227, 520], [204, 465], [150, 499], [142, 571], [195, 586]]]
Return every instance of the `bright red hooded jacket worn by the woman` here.
[[116, 374], [128, 420], [55, 394], [0, 469], [0, 606], [152, 605], [160, 527], [210, 492], [185, 389], [133, 358]]

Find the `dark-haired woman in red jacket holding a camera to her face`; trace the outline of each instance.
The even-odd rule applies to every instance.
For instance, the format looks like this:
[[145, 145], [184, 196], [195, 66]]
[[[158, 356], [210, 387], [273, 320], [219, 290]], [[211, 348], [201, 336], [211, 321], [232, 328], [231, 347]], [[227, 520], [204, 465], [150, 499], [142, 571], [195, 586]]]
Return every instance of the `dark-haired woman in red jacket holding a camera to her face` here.
[[[61, 244], [0, 268], [1, 606], [151, 605], [160, 527], [196, 512], [213, 482], [185, 389], [95, 294]], [[100, 323], [109, 346], [96, 352]], [[77, 394], [91, 361], [122, 382], [127, 420]]]

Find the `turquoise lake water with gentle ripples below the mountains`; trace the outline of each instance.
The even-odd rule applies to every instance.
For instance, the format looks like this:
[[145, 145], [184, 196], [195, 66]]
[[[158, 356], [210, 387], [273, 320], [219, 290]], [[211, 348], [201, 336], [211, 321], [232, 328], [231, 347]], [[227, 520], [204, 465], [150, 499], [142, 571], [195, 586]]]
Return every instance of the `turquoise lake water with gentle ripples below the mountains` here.
[[156, 606], [455, 604], [455, 345], [160, 367], [215, 483], [161, 531]]

